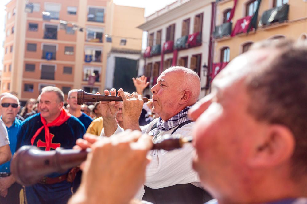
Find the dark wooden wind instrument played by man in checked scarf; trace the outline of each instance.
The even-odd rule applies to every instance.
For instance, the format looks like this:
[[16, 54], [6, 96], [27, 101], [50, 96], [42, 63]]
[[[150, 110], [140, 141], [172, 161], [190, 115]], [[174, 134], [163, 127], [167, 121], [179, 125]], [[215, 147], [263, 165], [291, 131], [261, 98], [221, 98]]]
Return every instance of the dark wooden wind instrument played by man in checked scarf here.
[[[77, 103], [82, 105], [86, 102], [99, 102], [99, 101], [122, 101], [122, 97], [120, 96], [107, 96], [101, 94], [91, 94], [83, 91], [83, 89], [79, 89], [77, 92]], [[144, 103], [151, 101], [150, 99], [143, 97]]]

